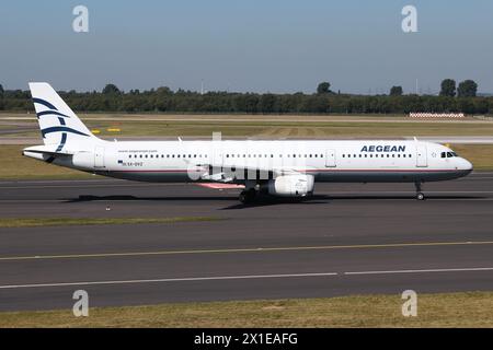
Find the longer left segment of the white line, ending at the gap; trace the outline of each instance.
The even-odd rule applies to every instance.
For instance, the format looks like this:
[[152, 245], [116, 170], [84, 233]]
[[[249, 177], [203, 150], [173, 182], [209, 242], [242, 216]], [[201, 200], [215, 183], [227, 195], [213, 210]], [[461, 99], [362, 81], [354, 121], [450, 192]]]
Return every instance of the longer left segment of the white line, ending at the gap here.
[[43, 288], [43, 287], [70, 287], [70, 285], [101, 285], [101, 284], [136, 284], [136, 283], [159, 283], [159, 282], [193, 282], [193, 281], [218, 281], [218, 280], [245, 280], [245, 279], [267, 279], [267, 278], [299, 278], [299, 277], [330, 277], [337, 276], [337, 272], [316, 272], [316, 273], [287, 273], [287, 275], [244, 275], [244, 276], [217, 276], [217, 277], [184, 277], [184, 278], [161, 278], [148, 280], [119, 280], [119, 281], [91, 281], [91, 282], [65, 282], [65, 283], [38, 283], [38, 284], [8, 284], [0, 285], [0, 289], [20, 288]]

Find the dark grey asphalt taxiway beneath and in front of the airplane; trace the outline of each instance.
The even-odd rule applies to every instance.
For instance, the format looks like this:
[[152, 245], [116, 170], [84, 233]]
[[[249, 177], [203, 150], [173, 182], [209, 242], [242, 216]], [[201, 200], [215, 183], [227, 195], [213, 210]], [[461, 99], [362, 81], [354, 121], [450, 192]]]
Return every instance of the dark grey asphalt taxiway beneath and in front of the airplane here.
[[[493, 290], [493, 174], [317, 184], [307, 200], [115, 179], [1, 182], [0, 218], [217, 217], [0, 228], [0, 311]], [[110, 209], [110, 210], [107, 210]]]

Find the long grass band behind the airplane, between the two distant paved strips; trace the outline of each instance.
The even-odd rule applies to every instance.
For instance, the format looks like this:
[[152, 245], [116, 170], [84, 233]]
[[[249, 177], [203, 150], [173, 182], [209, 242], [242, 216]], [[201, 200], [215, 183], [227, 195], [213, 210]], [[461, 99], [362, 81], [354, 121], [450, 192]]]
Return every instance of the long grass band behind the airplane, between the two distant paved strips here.
[[[333, 138], [371, 137], [397, 138], [402, 136], [491, 136], [493, 122], [414, 122], [414, 121], [96, 121], [88, 127], [98, 129], [100, 137], [211, 137], [220, 131], [225, 137], [259, 138]], [[121, 132], [107, 129], [118, 128]], [[39, 132], [18, 136], [38, 137]]]

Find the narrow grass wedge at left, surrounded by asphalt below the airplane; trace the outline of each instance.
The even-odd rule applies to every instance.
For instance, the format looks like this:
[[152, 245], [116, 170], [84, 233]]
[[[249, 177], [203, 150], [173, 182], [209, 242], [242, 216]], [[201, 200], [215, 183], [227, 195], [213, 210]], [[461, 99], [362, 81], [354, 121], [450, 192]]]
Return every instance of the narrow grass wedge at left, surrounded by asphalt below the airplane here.
[[223, 220], [216, 217], [176, 218], [0, 218], [0, 228], [36, 228], [71, 225], [116, 225], [140, 223], [175, 223]]

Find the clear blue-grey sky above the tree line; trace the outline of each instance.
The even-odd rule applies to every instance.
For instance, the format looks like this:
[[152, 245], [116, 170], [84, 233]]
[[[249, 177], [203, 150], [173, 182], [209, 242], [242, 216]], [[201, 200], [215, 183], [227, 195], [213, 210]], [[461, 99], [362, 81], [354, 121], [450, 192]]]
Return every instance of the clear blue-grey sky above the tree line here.
[[[72, 28], [76, 5], [89, 32]], [[417, 32], [404, 33], [404, 5]], [[101, 91], [436, 93], [443, 79], [493, 92], [491, 0], [5, 0], [0, 84]]]

